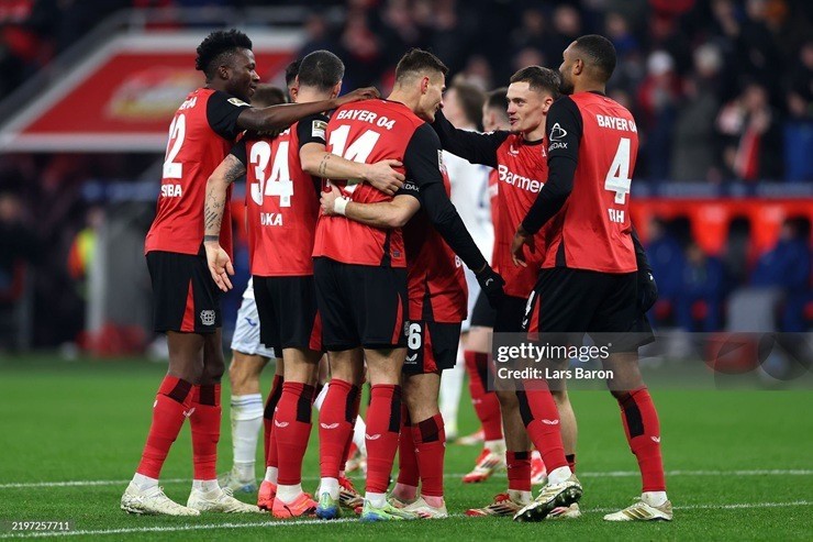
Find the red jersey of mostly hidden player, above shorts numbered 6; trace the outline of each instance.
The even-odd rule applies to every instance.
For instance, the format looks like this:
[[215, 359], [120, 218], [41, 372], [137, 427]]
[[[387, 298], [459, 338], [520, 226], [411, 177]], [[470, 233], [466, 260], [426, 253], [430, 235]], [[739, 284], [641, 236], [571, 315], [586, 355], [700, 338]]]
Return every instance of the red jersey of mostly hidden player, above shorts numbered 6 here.
[[[446, 197], [452, 193], [448, 175], [443, 173]], [[468, 288], [460, 258], [432, 226], [425, 208], [425, 191], [413, 184], [399, 195], [408, 193], [421, 201], [416, 212], [403, 229], [406, 247], [410, 320], [459, 323], [466, 319]]]

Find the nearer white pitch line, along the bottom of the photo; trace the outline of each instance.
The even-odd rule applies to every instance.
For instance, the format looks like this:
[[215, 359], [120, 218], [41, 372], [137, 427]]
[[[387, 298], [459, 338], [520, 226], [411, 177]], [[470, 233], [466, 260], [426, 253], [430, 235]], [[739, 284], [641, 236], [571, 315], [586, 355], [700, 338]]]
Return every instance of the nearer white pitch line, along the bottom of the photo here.
[[[813, 501], [810, 500], [793, 500], [789, 502], [736, 502], [731, 505], [688, 505], [681, 507], [675, 507], [676, 510], [737, 510], [748, 508], [787, 508], [797, 506], [812, 506]], [[604, 513], [616, 511], [615, 508], [588, 508], [583, 509], [586, 513]], [[454, 513], [450, 518], [465, 518], [461, 513]], [[261, 528], [277, 528], [277, 527], [296, 527], [296, 526], [331, 526], [334, 523], [348, 523], [350, 521], [358, 521], [354, 518], [337, 519], [332, 521], [322, 521], [318, 519], [307, 520], [294, 520], [294, 521], [258, 521], [249, 523], [204, 523], [198, 526], [174, 526], [174, 527], [133, 527], [125, 529], [97, 529], [97, 530], [81, 530], [81, 531], [55, 531], [55, 532], [25, 532], [25, 533], [10, 533], [0, 534], [0, 539], [33, 539], [44, 537], [93, 537], [104, 534], [132, 534], [132, 533], [148, 533], [148, 532], [180, 532], [180, 531], [200, 531], [203, 529], [253, 529], [257, 527]], [[474, 520], [477, 521], [477, 520]]]

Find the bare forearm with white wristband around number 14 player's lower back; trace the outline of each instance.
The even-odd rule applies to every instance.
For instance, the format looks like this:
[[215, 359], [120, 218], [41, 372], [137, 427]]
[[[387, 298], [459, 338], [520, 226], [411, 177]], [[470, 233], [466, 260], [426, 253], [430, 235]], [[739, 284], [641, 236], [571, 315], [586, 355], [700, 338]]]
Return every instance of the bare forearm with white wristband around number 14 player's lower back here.
[[[326, 215], [342, 214], [356, 222], [375, 228], [392, 229], [402, 228], [413, 214], [421, 208], [421, 203], [410, 196], [396, 196], [392, 201], [380, 203], [357, 203], [355, 201], [342, 201], [342, 195], [334, 186], [328, 191], [323, 191], [320, 199], [322, 213]], [[338, 212], [336, 202], [338, 201]]]

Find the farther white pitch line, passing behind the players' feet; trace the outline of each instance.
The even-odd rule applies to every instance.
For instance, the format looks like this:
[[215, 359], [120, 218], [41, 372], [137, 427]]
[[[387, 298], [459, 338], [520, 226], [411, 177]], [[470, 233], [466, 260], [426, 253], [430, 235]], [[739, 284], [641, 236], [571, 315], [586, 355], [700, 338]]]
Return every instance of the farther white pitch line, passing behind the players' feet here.
[[[637, 477], [637, 471], [610, 471], [610, 472], [579, 472], [579, 478], [625, 478]], [[813, 469], [757, 469], [757, 471], [669, 471], [667, 476], [811, 476]], [[464, 473], [446, 473], [445, 478], [461, 478]], [[318, 480], [316, 476], [303, 476], [304, 482]], [[189, 478], [167, 478], [162, 484], [183, 484], [191, 482]], [[66, 482], [16, 482], [0, 484], [0, 489], [33, 489], [38, 487], [86, 487], [86, 486], [121, 486], [130, 483], [129, 479], [120, 480], [66, 480]]]

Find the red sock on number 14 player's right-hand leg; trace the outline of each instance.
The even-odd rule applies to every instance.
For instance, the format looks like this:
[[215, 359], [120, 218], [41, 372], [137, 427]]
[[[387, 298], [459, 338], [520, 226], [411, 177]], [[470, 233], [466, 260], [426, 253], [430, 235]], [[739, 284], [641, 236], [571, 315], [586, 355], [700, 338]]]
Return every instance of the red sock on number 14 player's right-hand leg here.
[[401, 430], [401, 386], [378, 384], [367, 411], [367, 491], [387, 493]]

